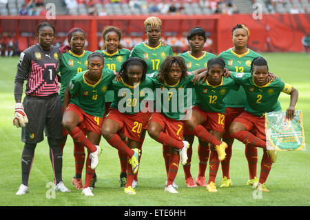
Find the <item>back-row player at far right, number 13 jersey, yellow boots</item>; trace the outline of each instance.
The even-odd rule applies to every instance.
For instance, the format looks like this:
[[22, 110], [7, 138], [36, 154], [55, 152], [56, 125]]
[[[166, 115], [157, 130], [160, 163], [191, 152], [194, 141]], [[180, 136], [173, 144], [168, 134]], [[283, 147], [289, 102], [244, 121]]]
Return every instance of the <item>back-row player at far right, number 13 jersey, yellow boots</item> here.
[[[245, 25], [237, 24], [234, 28], [232, 28], [231, 33], [234, 47], [221, 52], [218, 57], [225, 61], [225, 67], [229, 71], [249, 72], [251, 68], [251, 61], [256, 57], [260, 57], [260, 54], [247, 48], [249, 30]], [[220, 187], [229, 187], [232, 185], [232, 181], [229, 177], [229, 164], [234, 139], [229, 134], [229, 126], [231, 125], [231, 122], [234, 121], [234, 119], [245, 110], [245, 99], [245, 91], [242, 87], [240, 87], [238, 91], [231, 90], [225, 98], [227, 108], [223, 141], [227, 143], [228, 147], [226, 149], [226, 158], [221, 162], [223, 179]], [[256, 186], [258, 183], [258, 179], [256, 177], [256, 164], [258, 161], [257, 149], [247, 148], [246, 146], [245, 157], [247, 158], [249, 166], [249, 181], [247, 181], [247, 185], [254, 184], [254, 186]]]

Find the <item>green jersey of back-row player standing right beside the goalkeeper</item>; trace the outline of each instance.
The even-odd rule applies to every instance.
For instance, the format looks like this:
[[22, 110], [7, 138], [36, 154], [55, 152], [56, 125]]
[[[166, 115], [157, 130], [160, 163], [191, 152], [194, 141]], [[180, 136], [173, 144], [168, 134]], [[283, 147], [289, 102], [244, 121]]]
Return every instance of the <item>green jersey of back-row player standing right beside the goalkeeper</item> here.
[[91, 53], [92, 52], [90, 51], [84, 50], [83, 54], [76, 55], [69, 50], [68, 52], [61, 54], [58, 68], [58, 72], [61, 75], [61, 88], [59, 90], [61, 103], [63, 103], [65, 89], [69, 85], [71, 79], [76, 73], [87, 70], [87, 57]]

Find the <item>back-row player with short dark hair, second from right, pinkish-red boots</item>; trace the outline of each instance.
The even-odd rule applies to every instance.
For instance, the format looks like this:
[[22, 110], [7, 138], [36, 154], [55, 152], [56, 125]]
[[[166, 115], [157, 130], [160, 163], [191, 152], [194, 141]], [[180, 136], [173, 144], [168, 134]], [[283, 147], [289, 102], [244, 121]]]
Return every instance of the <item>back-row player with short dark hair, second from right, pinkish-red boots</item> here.
[[[189, 30], [187, 34], [187, 41], [191, 50], [179, 55], [185, 60], [187, 70], [189, 72], [192, 72], [193, 70], [198, 70], [200, 68], [207, 68], [207, 62], [209, 61], [209, 59], [216, 57], [215, 54], [203, 51], [203, 46], [205, 45], [206, 40], [207, 36], [203, 28], [196, 27]], [[193, 99], [195, 99], [195, 97], [195, 90], [193, 90]], [[207, 161], [209, 158], [209, 146], [206, 142], [199, 140], [199, 172], [195, 183], [191, 174], [191, 161], [193, 152], [192, 144], [194, 142], [194, 134], [190, 132], [189, 129], [187, 129], [187, 127], [185, 126], [183, 135], [185, 140], [189, 142], [189, 148], [187, 149], [188, 159], [185, 166], [183, 166], [183, 170], [185, 173], [185, 183], [187, 187], [190, 188], [197, 187], [196, 183], [198, 183], [198, 185], [200, 186], [206, 187], [207, 184], [205, 183], [205, 170], [207, 168]]]

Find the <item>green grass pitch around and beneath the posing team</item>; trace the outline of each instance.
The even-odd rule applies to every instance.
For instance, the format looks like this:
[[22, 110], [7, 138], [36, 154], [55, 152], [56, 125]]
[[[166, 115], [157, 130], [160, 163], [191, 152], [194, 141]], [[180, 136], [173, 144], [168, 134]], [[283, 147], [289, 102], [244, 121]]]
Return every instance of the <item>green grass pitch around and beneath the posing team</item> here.
[[[299, 99], [296, 110], [303, 111], [304, 132], [309, 146], [310, 134], [310, 54], [264, 53], [269, 70], [298, 89]], [[248, 168], [244, 146], [235, 141], [231, 157], [231, 188], [219, 188], [222, 179], [218, 170], [216, 185], [218, 192], [209, 193], [203, 187], [187, 188], [183, 168], [180, 165], [176, 183], [178, 194], [164, 192], [166, 174], [162, 147], [156, 141], [146, 137], [143, 146], [141, 168], [138, 173], [137, 194], [128, 196], [118, 183], [120, 165], [114, 148], [101, 139], [103, 154], [96, 169], [99, 181], [94, 188], [94, 197], [85, 197], [81, 190], [71, 184], [74, 176], [74, 157], [72, 140], [63, 154], [63, 181], [72, 190], [70, 193], [56, 192], [54, 199], [47, 196], [47, 184], [52, 181], [52, 166], [46, 139], [37, 145], [30, 173], [30, 193], [16, 196], [21, 183], [21, 129], [12, 125], [14, 114], [14, 76], [17, 71], [18, 57], [0, 57], [0, 206], [309, 206], [310, 205], [310, 152], [280, 152], [278, 161], [266, 182], [270, 192], [262, 193], [255, 199], [254, 188], [247, 186]], [[289, 104], [287, 94], [280, 95], [283, 110]], [[198, 173], [198, 141], [195, 139], [192, 157], [192, 176]], [[307, 146], [307, 147], [308, 147]], [[258, 175], [262, 150], [258, 149]], [[209, 175], [209, 166], [206, 179]], [[83, 178], [85, 169], [83, 170]]]

